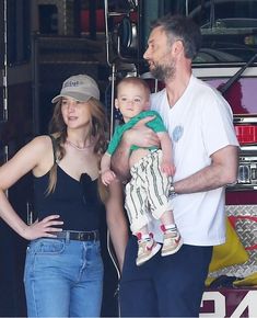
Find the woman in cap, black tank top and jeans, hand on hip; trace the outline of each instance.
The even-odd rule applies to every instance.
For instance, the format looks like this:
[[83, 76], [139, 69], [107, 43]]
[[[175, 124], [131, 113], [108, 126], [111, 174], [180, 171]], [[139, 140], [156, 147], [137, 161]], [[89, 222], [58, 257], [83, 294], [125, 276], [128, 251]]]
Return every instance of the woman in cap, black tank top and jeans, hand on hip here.
[[[49, 136], [24, 146], [0, 168], [0, 216], [31, 240], [25, 262], [30, 317], [97, 317], [103, 291], [100, 219], [106, 219], [121, 269], [127, 224], [118, 182], [105, 193], [98, 182], [106, 148], [106, 121], [96, 82], [67, 79], [56, 103]], [[26, 225], [4, 191], [28, 171], [34, 178], [37, 220]], [[102, 198], [102, 201], [100, 200]]]

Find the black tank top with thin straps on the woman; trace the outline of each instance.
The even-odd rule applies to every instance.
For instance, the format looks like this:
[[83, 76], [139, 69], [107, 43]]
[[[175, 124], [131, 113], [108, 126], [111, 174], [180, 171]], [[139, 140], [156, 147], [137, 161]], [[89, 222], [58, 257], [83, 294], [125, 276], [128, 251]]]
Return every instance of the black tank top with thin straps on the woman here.
[[56, 189], [47, 195], [48, 182], [49, 172], [39, 178], [34, 177], [34, 211], [39, 220], [59, 214], [63, 230], [100, 228], [104, 205], [98, 196], [97, 180], [92, 181], [83, 173], [78, 181], [57, 164]]

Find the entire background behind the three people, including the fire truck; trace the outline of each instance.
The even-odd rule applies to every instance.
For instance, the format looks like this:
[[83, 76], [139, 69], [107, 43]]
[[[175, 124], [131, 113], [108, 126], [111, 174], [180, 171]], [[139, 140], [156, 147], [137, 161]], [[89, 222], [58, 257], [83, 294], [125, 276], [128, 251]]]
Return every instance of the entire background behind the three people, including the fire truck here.
[[[241, 302], [252, 299], [247, 293], [257, 293], [257, 1], [0, 0], [0, 164], [34, 136], [47, 134], [50, 101], [72, 75], [87, 73], [97, 81], [112, 136], [120, 121], [114, 110], [119, 79], [140, 76], [152, 91], [163, 87], [142, 55], [151, 21], [167, 12], [190, 15], [200, 24], [203, 47], [194, 72], [230, 102], [241, 144], [237, 183], [226, 189], [227, 241], [214, 251], [201, 313], [257, 317], [250, 300], [237, 315]], [[30, 173], [8, 196], [25, 222], [34, 217]], [[104, 217], [102, 224], [102, 316], [116, 317], [120, 273]], [[0, 316], [25, 317], [27, 241], [2, 220], [0, 237]], [[220, 306], [211, 294], [217, 291], [223, 297], [218, 297]]]

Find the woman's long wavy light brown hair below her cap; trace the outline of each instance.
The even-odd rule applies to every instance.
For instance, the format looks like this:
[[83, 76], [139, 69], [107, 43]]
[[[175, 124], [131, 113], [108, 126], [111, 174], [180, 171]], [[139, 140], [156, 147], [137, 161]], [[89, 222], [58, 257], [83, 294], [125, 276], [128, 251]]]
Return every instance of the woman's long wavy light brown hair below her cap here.
[[[98, 168], [101, 158], [104, 155], [107, 148], [107, 129], [108, 123], [106, 118], [106, 114], [104, 111], [104, 106], [102, 103], [91, 98], [87, 101], [90, 105], [91, 112], [91, 122], [90, 122], [90, 137], [94, 140], [94, 154], [98, 157]], [[51, 167], [49, 171], [49, 183], [47, 188], [47, 194], [52, 193], [56, 189], [57, 183], [57, 163], [65, 157], [66, 149], [63, 147], [67, 139], [67, 125], [63, 121], [61, 113], [61, 100], [57, 102], [52, 117], [49, 123], [49, 134], [55, 137], [55, 159], [56, 162]], [[107, 188], [101, 182], [101, 178], [98, 178], [98, 193], [100, 197], [103, 202], [105, 202], [108, 197]]]

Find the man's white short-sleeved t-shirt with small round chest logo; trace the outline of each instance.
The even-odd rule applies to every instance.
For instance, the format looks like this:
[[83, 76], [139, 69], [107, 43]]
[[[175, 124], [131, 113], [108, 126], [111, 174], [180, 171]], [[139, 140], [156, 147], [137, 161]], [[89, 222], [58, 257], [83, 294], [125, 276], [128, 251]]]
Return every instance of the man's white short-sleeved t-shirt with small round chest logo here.
[[[210, 156], [227, 146], [238, 146], [233, 114], [222, 95], [191, 76], [184, 94], [170, 107], [166, 89], [151, 95], [173, 140], [174, 182], [210, 166]], [[225, 241], [225, 190], [179, 194], [174, 197], [174, 217], [185, 243], [215, 246]], [[154, 222], [156, 240], [161, 240]]]

